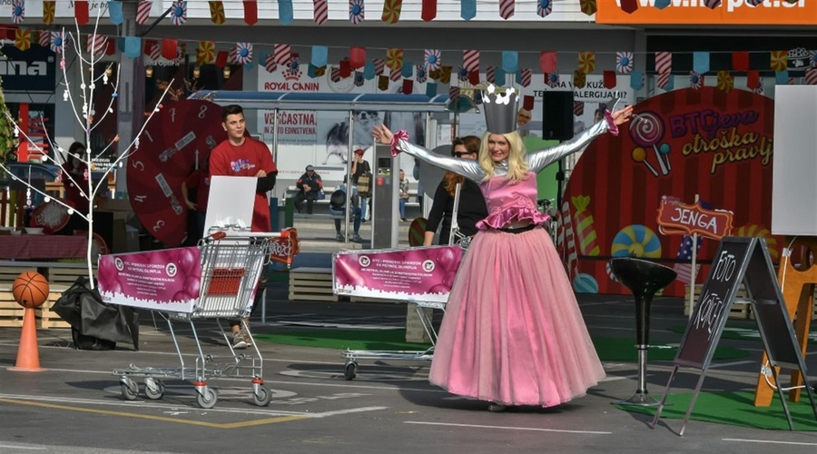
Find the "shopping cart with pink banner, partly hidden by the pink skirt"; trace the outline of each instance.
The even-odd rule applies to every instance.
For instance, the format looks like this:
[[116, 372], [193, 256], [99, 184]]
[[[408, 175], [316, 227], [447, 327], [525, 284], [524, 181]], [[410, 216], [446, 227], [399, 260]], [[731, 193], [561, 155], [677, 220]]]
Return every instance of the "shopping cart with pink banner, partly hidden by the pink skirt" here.
[[357, 376], [358, 360], [431, 360], [437, 331], [427, 310], [445, 311], [462, 254], [463, 247], [455, 244], [333, 255], [336, 294], [415, 303], [418, 319], [431, 340], [426, 350], [346, 350], [346, 380]]

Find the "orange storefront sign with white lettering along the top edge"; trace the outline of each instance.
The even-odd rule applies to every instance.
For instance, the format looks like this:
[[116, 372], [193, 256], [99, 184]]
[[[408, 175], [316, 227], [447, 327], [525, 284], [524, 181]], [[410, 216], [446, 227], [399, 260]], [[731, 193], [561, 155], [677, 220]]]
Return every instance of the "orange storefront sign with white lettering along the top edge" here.
[[621, 9], [621, 0], [598, 0], [596, 23], [817, 26], [817, 0], [797, 0], [794, 3], [764, 0], [756, 6], [747, 0], [722, 0], [721, 5], [714, 9], [704, 5], [704, 0], [669, 0], [669, 5], [663, 9], [655, 7], [655, 0], [630, 1], [638, 5], [632, 14]]

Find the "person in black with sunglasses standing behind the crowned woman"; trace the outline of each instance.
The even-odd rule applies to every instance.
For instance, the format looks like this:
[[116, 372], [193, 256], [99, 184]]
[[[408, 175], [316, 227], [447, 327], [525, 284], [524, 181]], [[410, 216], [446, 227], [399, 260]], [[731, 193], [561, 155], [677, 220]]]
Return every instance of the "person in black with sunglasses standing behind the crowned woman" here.
[[[479, 137], [476, 135], [467, 135], [462, 138], [455, 137], [451, 155], [462, 159], [477, 159], [479, 143]], [[423, 246], [430, 246], [434, 242], [434, 233], [437, 232], [440, 222], [442, 222], [442, 230], [439, 232], [438, 244], [448, 244], [454, 214], [454, 193], [457, 184], [461, 184], [457, 210], [459, 232], [465, 236], [476, 234], [477, 222], [482, 221], [487, 216], [485, 198], [482, 196], [482, 192], [479, 191], [479, 185], [467, 180], [462, 175], [448, 171], [437, 186], [437, 192], [434, 192], [434, 202], [431, 203], [431, 211], [428, 212]]]

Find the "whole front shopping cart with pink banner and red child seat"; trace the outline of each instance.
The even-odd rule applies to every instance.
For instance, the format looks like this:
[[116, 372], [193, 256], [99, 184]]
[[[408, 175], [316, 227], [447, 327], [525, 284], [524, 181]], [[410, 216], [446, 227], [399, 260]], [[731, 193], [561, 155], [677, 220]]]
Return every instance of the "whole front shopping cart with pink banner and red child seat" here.
[[[270, 403], [271, 392], [264, 387], [261, 351], [256, 342], [252, 341], [250, 327], [244, 319], [250, 315], [261, 271], [266, 270], [266, 265], [270, 262], [273, 239], [283, 239], [285, 235], [287, 232], [217, 232], [202, 240], [198, 248], [114, 254], [101, 258], [99, 289], [103, 301], [158, 313], [167, 321], [181, 363], [178, 368], [140, 368], [131, 364], [127, 368], [113, 370], [113, 374], [120, 377], [124, 400], [136, 399], [139, 393], [139, 386], [133, 380], [136, 377], [143, 378], [144, 394], [151, 400], [162, 399], [165, 391], [163, 379], [192, 380], [196, 402], [202, 409], [210, 409], [218, 400], [218, 395], [208, 386], [208, 379], [250, 378], [253, 402], [261, 407]], [[196, 255], [195, 252], [198, 252], [199, 261], [191, 263], [190, 253]], [[144, 257], [150, 254], [163, 255]], [[158, 266], [155, 263], [159, 263]], [[191, 271], [186, 276], [182, 275], [185, 266]], [[146, 300], [143, 295], [138, 294], [145, 291], [145, 285], [134, 285], [135, 290], [123, 290], [123, 287], [128, 287], [127, 282], [138, 283], [147, 279], [147, 271], [153, 274], [161, 274], [163, 271], [161, 276], [165, 281], [179, 277], [174, 283], [177, 287], [162, 287], [163, 284], [157, 281], [156, 285], [161, 287], [160, 294], [153, 300]], [[197, 276], [196, 271], [200, 271], [200, 275]], [[184, 291], [176, 291], [178, 285], [182, 285], [185, 290], [189, 285], [194, 286], [196, 278], [199, 284], [198, 295], [185, 295]], [[172, 293], [172, 297], [162, 300], [162, 289], [167, 291], [166, 294]], [[156, 292], [156, 289], [151, 291]], [[204, 353], [196, 330], [196, 322], [204, 319], [216, 321], [221, 337], [230, 351], [229, 356], [217, 357]], [[229, 319], [241, 320], [254, 351], [240, 354], [233, 350], [231, 338], [222, 324]], [[173, 330], [174, 322], [190, 324], [197, 351], [194, 364], [186, 362], [182, 355], [176, 331]]]

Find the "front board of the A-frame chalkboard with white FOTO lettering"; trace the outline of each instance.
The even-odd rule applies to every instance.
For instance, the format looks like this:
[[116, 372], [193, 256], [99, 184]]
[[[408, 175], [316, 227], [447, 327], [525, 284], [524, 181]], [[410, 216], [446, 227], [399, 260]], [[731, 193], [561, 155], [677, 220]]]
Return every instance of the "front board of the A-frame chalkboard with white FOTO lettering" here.
[[704, 369], [712, 359], [755, 242], [755, 238], [744, 237], [726, 237], [721, 242], [678, 348], [675, 364]]

